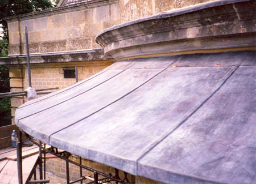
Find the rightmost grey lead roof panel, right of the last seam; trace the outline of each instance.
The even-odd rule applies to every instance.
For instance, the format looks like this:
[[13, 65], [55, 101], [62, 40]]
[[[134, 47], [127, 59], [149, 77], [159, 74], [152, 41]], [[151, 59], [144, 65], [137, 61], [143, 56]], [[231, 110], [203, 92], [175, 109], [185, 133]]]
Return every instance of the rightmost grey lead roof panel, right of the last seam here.
[[255, 183], [255, 71], [255, 66], [239, 67], [179, 129], [139, 161], [138, 174], [171, 183], [189, 183], [191, 178]]

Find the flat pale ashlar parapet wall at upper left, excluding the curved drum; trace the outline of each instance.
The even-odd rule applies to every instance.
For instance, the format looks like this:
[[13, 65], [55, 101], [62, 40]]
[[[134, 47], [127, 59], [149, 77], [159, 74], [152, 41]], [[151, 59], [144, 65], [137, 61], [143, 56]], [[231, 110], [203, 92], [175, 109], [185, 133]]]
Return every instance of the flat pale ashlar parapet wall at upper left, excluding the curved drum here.
[[[118, 3], [108, 3], [56, 15], [36, 15], [9, 22], [9, 55], [25, 54], [24, 27], [28, 27], [30, 53], [60, 52], [100, 48], [97, 33], [119, 24]], [[48, 15], [48, 16], [47, 16]]]

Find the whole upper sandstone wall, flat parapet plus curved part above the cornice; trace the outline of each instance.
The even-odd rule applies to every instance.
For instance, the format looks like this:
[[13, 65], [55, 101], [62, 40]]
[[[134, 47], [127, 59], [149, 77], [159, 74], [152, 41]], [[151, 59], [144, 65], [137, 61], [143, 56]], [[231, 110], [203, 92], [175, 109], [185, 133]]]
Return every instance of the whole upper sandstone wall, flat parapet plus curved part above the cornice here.
[[215, 0], [94, 0], [80, 8], [47, 10], [8, 20], [9, 55], [25, 54], [24, 26], [28, 27], [30, 53], [100, 48], [97, 33], [119, 23], [198, 3]]

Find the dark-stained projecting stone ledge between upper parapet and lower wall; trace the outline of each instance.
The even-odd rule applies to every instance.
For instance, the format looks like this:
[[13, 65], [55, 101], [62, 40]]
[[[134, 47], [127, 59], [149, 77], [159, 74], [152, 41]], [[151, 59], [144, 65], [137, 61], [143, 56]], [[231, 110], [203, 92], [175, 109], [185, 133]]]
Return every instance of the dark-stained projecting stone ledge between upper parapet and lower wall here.
[[[54, 63], [105, 60], [103, 49], [75, 50], [67, 52], [30, 54], [30, 63]], [[27, 63], [27, 55], [10, 55], [1, 57], [0, 65], [20, 65]]]

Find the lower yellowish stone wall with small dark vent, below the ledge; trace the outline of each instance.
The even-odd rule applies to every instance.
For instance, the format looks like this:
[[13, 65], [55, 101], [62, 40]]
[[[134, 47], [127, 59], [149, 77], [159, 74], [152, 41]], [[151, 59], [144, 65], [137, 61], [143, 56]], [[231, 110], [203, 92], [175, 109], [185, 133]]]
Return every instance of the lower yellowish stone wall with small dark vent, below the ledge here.
[[[31, 82], [32, 88], [43, 89], [51, 87], [65, 88], [76, 83], [76, 79], [64, 78], [63, 69], [65, 67], [77, 66], [79, 81], [104, 70], [105, 67], [111, 65], [109, 61], [91, 61], [91, 62], [73, 62], [73, 63], [52, 63], [31, 65]], [[10, 87], [11, 92], [23, 91], [28, 87], [27, 68], [23, 66], [10, 67]], [[42, 96], [42, 95], [39, 95]], [[11, 115], [12, 123], [14, 122], [15, 110], [24, 102], [26, 98], [23, 96], [13, 97], [11, 99]]]

